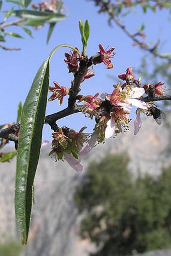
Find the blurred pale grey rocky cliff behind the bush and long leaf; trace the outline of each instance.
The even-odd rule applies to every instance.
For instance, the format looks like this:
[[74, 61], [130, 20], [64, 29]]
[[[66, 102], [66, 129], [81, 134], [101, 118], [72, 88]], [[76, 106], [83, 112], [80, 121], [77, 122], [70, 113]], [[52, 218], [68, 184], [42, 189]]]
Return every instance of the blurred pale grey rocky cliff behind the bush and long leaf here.
[[[171, 163], [170, 125], [171, 115], [168, 114], [162, 125], [150, 118], [144, 119], [136, 136], [131, 126], [128, 132], [97, 145], [84, 157], [84, 173], [90, 160], [99, 161], [105, 154], [127, 151], [131, 158], [129, 167], [135, 176], [137, 172], [158, 175], [161, 166]], [[94, 246], [77, 235], [79, 216], [72, 198], [84, 173], [77, 174], [67, 163], [55, 162], [48, 156], [49, 150], [50, 146], [41, 152], [29, 243], [22, 256], [87, 256]], [[0, 164], [1, 241], [18, 237], [14, 217], [15, 165], [15, 159]]]

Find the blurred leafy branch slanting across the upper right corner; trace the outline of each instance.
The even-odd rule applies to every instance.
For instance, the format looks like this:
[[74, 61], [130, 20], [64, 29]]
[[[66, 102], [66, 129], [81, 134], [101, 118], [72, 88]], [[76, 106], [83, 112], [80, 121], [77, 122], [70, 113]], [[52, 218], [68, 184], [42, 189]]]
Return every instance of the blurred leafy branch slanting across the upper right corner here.
[[[94, 2], [95, 6], [98, 8], [99, 14], [107, 14], [109, 19], [109, 25], [117, 25], [132, 41], [134, 46], [139, 46], [141, 49], [145, 50], [154, 57], [159, 57], [160, 59], [165, 59], [171, 61], [171, 53], [164, 52], [160, 53], [158, 49], [161, 45], [160, 38], [155, 38], [154, 42], [148, 41], [146, 38], [145, 28], [148, 27], [148, 19], [144, 18], [144, 21], [140, 25], [138, 19], [135, 25], [138, 27], [135, 32], [131, 32], [128, 22], [125, 17], [131, 13], [136, 14], [147, 14], [151, 11], [151, 14], [155, 14], [158, 11], [168, 11], [168, 22], [170, 22], [170, 11], [171, 3], [166, 0], [87, 0]], [[154, 22], [154, 26], [157, 26]], [[155, 35], [156, 36], [156, 35]]]

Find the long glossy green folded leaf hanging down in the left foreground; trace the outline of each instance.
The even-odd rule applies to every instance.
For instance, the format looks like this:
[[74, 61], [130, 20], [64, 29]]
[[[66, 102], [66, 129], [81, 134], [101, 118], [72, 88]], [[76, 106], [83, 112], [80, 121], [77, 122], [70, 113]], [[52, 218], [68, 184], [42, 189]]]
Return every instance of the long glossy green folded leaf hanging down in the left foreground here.
[[15, 213], [26, 246], [33, 202], [33, 182], [38, 164], [49, 87], [49, 59], [39, 68], [23, 106], [17, 153]]

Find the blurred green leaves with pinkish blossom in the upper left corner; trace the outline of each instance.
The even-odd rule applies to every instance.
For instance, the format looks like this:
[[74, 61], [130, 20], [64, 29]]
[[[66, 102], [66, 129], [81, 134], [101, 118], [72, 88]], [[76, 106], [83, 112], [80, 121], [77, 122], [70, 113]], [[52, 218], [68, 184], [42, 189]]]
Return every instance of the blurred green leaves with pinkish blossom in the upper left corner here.
[[[6, 42], [6, 39], [9, 36], [24, 38], [22, 35], [13, 31], [16, 25], [33, 38], [32, 31], [28, 27], [31, 27], [32, 29], [39, 29], [45, 24], [49, 25], [46, 41], [48, 43], [56, 23], [66, 18], [66, 15], [63, 14], [63, 12], [66, 11], [66, 8], [63, 6], [63, 2], [61, 0], [44, 0], [42, 3], [33, 3], [32, 5], [32, 0], [6, 1], [12, 3], [12, 6], [15, 6], [10, 10], [2, 12], [4, 17], [1, 18], [2, 21], [0, 23], [0, 42], [3, 43]], [[0, 0], [0, 12], [3, 4], [5, 3]], [[7, 27], [10, 27], [12, 31], [7, 32]], [[2, 44], [0, 44], [0, 48], [5, 50], [20, 50], [20, 48], [9, 48]]]

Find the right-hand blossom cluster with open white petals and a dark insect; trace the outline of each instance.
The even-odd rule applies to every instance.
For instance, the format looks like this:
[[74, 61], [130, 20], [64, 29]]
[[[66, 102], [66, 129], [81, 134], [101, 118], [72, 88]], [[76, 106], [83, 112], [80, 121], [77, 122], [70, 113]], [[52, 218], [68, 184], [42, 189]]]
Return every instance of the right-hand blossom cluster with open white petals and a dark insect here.
[[[105, 95], [105, 101], [98, 98], [99, 93], [95, 96], [81, 96], [79, 99], [79, 101], [84, 103], [84, 106], [81, 108], [83, 114], [88, 113], [90, 118], [95, 116], [96, 119], [99, 116], [94, 129], [96, 134], [98, 134], [98, 142], [103, 142], [105, 139], [128, 130], [128, 124], [131, 121], [129, 115], [132, 107], [137, 108], [137, 115], [134, 121], [135, 135], [142, 124], [140, 114], [153, 116], [158, 124], [161, 123], [161, 119], [165, 118], [164, 114], [162, 114], [163, 112], [154, 107], [153, 103], [143, 101], [143, 95], [148, 95], [147, 86], [153, 87], [155, 95], [165, 94], [164, 82], [141, 86], [140, 78], [135, 80], [136, 76], [132, 74], [132, 67], [128, 67], [126, 74], [118, 75], [118, 77], [126, 82], [122, 85], [119, 82], [114, 85], [113, 92]], [[156, 112], [157, 115], [155, 114]]]

